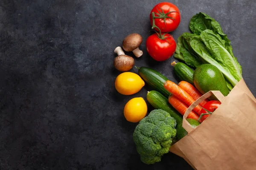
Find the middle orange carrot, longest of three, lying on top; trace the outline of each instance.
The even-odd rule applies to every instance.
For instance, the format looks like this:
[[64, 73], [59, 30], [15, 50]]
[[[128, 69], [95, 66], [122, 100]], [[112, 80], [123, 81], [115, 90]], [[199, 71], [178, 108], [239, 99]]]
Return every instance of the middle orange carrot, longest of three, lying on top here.
[[[190, 106], [192, 105], [195, 100], [182, 88], [180, 88], [178, 85], [176, 85], [174, 82], [171, 82], [170, 80], [166, 80], [164, 83], [164, 88], [166, 88], [167, 91], [169, 91], [171, 94], [174, 94], [177, 96], [182, 102], [184, 102], [186, 105]], [[193, 111], [200, 114], [201, 107], [199, 105], [195, 106]]]

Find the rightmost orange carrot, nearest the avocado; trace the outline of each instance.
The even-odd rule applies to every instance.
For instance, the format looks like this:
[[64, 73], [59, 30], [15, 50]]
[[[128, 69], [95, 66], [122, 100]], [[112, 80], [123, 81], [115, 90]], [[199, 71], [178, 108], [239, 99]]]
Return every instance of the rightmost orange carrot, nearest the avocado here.
[[[198, 91], [192, 84], [189, 82], [181, 81], [178, 83], [178, 86], [182, 88], [184, 91], [186, 91], [194, 100], [197, 100], [199, 97], [201, 97], [203, 94]], [[209, 100], [205, 99], [199, 105], [203, 107], [205, 103], [207, 103]]]

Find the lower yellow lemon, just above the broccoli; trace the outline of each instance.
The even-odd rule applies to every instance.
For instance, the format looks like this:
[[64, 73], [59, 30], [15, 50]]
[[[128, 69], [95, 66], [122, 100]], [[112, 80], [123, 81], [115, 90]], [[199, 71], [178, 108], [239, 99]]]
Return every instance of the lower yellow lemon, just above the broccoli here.
[[129, 122], [140, 122], [148, 111], [147, 104], [142, 97], [135, 97], [129, 100], [124, 108], [125, 119]]

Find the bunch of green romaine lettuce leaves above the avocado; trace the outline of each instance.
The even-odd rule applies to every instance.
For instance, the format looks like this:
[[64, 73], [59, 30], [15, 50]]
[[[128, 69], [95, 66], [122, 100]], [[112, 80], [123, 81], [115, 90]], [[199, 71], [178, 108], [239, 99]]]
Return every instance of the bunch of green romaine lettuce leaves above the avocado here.
[[189, 28], [193, 34], [185, 32], [178, 38], [174, 57], [195, 68], [203, 63], [215, 65], [232, 90], [242, 78], [242, 68], [220, 24], [200, 12], [192, 17]]

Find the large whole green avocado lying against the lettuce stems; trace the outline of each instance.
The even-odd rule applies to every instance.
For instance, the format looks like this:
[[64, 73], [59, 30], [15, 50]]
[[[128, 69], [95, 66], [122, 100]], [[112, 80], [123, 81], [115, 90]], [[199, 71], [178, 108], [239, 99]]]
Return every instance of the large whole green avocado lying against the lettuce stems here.
[[[193, 82], [202, 94], [208, 91], [220, 91], [224, 96], [229, 94], [223, 74], [214, 65], [202, 64], [198, 66], [193, 74]], [[209, 99], [216, 100], [216, 97], [211, 96]]]

